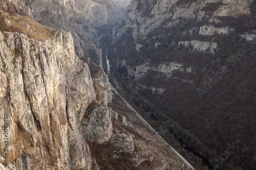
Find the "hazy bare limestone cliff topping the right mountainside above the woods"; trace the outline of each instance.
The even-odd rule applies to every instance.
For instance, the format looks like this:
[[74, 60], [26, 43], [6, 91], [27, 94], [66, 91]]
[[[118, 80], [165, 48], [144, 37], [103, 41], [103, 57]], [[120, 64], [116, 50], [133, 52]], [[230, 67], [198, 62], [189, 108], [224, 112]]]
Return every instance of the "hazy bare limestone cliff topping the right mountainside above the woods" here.
[[126, 10], [124, 24], [114, 29], [113, 40], [115, 42], [129, 29], [133, 29], [132, 36], [136, 43], [137, 39], [144, 39], [154, 29], [173, 27], [178, 22], [182, 25], [189, 20], [221, 23], [221, 17], [250, 15], [251, 3], [252, 0], [134, 0]]

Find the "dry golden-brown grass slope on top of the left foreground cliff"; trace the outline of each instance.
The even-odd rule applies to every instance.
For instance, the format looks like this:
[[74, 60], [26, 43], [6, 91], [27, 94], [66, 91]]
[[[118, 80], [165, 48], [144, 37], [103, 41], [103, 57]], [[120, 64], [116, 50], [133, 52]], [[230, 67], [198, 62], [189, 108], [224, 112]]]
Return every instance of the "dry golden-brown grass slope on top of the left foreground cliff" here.
[[59, 31], [57, 29], [42, 26], [30, 17], [18, 15], [14, 12], [8, 12], [2, 9], [0, 9], [0, 30], [23, 33], [29, 38], [39, 41], [51, 39], [53, 38], [54, 33]]

